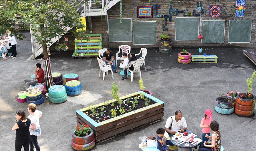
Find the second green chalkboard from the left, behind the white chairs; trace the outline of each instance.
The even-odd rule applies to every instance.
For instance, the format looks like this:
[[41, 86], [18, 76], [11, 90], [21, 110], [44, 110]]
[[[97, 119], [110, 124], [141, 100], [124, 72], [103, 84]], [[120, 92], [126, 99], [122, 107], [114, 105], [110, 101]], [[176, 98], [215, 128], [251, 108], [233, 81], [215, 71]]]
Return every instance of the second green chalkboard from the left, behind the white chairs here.
[[156, 44], [156, 21], [132, 22], [133, 45]]

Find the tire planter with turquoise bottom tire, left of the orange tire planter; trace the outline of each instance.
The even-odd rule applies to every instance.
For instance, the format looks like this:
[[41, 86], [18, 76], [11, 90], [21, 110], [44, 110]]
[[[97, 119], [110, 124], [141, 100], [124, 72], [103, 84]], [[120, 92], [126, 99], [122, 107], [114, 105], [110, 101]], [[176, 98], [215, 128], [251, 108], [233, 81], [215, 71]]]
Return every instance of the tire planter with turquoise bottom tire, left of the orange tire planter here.
[[224, 93], [216, 98], [215, 111], [220, 114], [231, 114], [234, 112], [235, 99], [234, 97], [226, 97]]

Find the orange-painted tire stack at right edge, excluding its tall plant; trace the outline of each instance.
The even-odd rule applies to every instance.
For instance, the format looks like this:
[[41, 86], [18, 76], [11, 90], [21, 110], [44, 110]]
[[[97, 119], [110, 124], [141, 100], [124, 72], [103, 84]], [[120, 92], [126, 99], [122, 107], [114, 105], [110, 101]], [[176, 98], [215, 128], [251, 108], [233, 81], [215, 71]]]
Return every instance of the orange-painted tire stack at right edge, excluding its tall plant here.
[[[246, 93], [241, 93], [246, 94]], [[248, 117], [254, 113], [256, 97], [252, 95], [251, 99], [244, 99], [240, 94], [236, 96], [235, 113], [240, 116]]]

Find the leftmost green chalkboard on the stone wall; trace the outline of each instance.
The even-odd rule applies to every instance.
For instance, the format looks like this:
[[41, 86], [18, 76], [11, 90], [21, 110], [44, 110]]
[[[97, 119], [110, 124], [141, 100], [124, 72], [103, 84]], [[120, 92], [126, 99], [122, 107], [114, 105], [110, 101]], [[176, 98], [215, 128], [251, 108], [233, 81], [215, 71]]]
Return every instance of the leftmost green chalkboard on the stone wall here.
[[132, 41], [132, 19], [125, 18], [120, 24], [120, 19], [108, 19], [109, 42]]

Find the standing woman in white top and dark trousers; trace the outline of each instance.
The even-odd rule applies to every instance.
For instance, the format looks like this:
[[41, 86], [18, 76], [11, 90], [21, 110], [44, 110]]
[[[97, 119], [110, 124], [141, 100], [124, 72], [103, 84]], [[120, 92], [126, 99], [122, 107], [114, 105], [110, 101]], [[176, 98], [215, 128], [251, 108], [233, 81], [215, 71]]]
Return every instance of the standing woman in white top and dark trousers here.
[[30, 103], [28, 104], [28, 112], [30, 113], [28, 119], [30, 119], [31, 124], [29, 126], [30, 132], [30, 142], [29, 142], [29, 150], [33, 151], [34, 146], [36, 151], [40, 151], [40, 146], [37, 141], [37, 136], [41, 135], [41, 127], [39, 125], [39, 118], [42, 116], [42, 112], [36, 110], [36, 104]]

